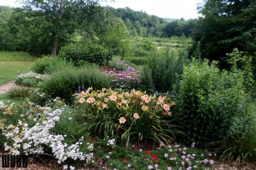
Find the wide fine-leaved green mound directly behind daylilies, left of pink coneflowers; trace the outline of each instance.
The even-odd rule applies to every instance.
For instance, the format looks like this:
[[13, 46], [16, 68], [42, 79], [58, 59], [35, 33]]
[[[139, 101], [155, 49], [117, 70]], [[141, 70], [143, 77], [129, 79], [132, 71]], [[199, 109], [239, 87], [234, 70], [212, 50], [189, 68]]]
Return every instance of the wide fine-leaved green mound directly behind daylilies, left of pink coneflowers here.
[[79, 86], [101, 89], [109, 87], [110, 80], [97, 67], [65, 67], [54, 72], [42, 83], [42, 92], [51, 98], [60, 97], [67, 102], [73, 100], [73, 94]]

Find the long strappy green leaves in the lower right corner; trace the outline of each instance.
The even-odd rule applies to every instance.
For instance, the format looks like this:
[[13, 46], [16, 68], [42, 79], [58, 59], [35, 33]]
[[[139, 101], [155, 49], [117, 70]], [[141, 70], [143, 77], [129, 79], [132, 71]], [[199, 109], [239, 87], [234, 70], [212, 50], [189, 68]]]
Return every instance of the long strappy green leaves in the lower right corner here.
[[249, 103], [245, 114], [235, 133], [221, 141], [214, 141], [211, 147], [222, 159], [233, 159], [237, 162], [256, 160], [256, 106]]

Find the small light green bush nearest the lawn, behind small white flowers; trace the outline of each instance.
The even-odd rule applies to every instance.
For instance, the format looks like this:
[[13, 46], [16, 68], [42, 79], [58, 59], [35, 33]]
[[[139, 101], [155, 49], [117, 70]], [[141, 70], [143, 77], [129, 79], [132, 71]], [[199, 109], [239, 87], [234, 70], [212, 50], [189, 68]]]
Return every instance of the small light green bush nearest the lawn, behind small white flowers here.
[[52, 72], [61, 69], [65, 65], [67, 65], [67, 63], [60, 58], [43, 56], [35, 61], [31, 70], [39, 74], [51, 74]]

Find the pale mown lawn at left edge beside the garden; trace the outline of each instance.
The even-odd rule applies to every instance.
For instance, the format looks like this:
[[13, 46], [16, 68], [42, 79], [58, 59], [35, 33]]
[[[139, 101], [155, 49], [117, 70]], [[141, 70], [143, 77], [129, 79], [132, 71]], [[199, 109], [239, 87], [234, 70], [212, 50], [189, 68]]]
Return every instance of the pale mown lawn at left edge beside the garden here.
[[33, 62], [0, 62], [0, 86], [13, 81], [19, 72], [29, 72]]

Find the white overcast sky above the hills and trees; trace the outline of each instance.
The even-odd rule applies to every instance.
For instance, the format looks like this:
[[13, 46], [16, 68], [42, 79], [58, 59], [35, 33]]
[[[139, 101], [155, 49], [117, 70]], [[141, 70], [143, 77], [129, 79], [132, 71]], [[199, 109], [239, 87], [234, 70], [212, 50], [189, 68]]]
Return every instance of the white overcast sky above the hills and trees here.
[[[114, 2], [102, 2], [103, 6], [130, 7], [135, 11], [146, 11], [150, 15], [157, 15], [161, 18], [197, 18], [197, 4], [203, 0], [115, 0]], [[12, 7], [21, 6], [17, 0], [0, 0], [0, 5]]]

